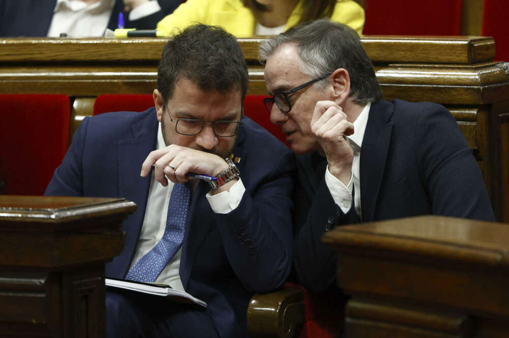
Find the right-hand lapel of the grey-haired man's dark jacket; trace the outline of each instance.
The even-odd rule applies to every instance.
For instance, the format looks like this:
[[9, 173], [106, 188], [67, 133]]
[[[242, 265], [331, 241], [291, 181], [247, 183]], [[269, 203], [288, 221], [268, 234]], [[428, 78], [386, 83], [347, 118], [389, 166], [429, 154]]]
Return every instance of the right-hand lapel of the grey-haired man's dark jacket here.
[[373, 104], [360, 150], [360, 196], [362, 222], [374, 220], [392, 134], [388, 123], [393, 106], [387, 101]]

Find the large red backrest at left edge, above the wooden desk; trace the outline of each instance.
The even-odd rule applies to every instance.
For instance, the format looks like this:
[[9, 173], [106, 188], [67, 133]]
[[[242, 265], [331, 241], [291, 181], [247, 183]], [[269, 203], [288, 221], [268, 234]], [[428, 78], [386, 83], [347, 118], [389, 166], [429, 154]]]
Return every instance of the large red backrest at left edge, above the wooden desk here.
[[65, 95], [0, 95], [0, 178], [6, 195], [42, 195], [69, 143]]

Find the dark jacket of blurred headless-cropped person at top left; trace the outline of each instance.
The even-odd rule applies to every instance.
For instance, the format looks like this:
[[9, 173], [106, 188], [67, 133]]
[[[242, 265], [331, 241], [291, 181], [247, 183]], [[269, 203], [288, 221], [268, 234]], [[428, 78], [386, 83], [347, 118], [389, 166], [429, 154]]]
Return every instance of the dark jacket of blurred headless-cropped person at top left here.
[[[126, 28], [155, 29], [166, 15], [182, 3], [181, 0], [157, 0], [161, 11], [138, 20], [129, 21], [125, 13]], [[0, 37], [45, 37], [53, 18], [56, 0], [0, 0]], [[109, 17], [108, 28], [118, 27], [119, 13], [124, 11], [122, 0], [116, 0]]]

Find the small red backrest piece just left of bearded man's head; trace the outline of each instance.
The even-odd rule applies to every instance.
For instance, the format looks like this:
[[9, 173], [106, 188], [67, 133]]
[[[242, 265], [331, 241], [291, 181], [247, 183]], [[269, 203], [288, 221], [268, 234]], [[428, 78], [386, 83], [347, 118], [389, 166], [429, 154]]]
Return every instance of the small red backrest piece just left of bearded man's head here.
[[151, 94], [104, 94], [96, 98], [93, 115], [110, 111], [144, 111], [150, 107], [154, 107]]

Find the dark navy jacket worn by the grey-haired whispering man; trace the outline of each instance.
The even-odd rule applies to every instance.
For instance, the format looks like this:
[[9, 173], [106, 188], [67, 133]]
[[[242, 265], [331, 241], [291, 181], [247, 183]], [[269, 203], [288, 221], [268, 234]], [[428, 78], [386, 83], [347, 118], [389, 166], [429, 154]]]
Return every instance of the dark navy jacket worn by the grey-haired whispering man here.
[[[323, 291], [337, 255], [321, 242], [334, 225], [360, 222], [325, 184], [327, 161], [298, 157], [294, 264], [301, 283]], [[360, 151], [362, 222], [437, 214], [494, 221], [483, 176], [454, 117], [444, 107], [401, 100], [371, 106]]]

